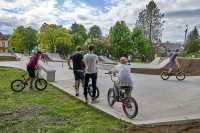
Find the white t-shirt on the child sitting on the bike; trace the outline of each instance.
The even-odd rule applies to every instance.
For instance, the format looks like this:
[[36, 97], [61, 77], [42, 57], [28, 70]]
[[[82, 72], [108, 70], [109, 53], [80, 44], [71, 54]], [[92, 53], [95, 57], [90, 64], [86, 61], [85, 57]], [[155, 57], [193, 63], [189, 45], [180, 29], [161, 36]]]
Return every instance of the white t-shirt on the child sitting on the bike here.
[[130, 65], [119, 64], [115, 66], [113, 71], [119, 73], [119, 86], [133, 87], [133, 80], [131, 78]]

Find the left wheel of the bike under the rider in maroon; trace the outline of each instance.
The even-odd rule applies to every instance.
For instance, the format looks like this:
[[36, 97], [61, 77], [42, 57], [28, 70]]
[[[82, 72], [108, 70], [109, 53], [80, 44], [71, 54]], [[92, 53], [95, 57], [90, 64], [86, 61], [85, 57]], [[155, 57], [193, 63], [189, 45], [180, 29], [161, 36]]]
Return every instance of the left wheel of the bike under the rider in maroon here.
[[21, 92], [25, 88], [25, 84], [22, 80], [14, 80], [11, 82], [11, 89], [14, 92]]

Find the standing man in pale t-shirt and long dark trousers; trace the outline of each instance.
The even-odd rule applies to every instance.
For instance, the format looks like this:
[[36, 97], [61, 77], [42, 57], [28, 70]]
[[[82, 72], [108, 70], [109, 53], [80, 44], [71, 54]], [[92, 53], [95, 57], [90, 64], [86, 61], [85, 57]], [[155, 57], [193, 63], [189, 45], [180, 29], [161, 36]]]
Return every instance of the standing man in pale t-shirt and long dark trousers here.
[[88, 83], [89, 79], [92, 79], [92, 87], [93, 87], [93, 96], [92, 96], [92, 103], [96, 102], [96, 82], [97, 82], [97, 63], [98, 63], [98, 56], [93, 53], [94, 45], [89, 46], [89, 53], [87, 53], [83, 61], [85, 63], [85, 85], [84, 85], [84, 96], [85, 101], [88, 101], [87, 93], [88, 93]]

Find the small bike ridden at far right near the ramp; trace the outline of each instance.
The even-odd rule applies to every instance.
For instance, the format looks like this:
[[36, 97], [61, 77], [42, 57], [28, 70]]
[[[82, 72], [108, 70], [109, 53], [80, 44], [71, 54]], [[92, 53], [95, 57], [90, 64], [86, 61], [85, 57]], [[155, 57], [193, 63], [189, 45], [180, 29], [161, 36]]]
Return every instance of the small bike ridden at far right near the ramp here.
[[179, 81], [182, 81], [186, 78], [185, 73], [180, 69], [173, 70], [171, 73], [168, 73], [168, 71], [163, 71], [160, 76], [163, 80], [168, 80], [171, 76], [176, 76], [176, 79]]

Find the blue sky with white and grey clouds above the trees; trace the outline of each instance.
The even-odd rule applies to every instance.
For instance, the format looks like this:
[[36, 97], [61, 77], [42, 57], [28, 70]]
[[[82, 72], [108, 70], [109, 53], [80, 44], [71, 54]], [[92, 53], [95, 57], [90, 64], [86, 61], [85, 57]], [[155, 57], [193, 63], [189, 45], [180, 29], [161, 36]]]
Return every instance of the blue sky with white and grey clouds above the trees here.
[[[116, 21], [130, 29], [150, 0], [0, 0], [0, 32], [10, 34], [19, 25], [35, 29], [44, 23], [70, 28], [74, 22], [87, 30], [98, 25], [107, 35]], [[200, 29], [200, 0], [155, 0], [165, 14], [162, 41], [183, 42], [185, 25]]]

